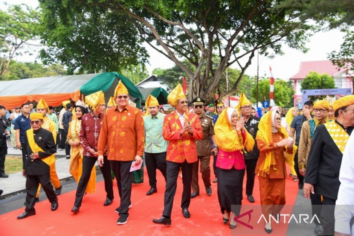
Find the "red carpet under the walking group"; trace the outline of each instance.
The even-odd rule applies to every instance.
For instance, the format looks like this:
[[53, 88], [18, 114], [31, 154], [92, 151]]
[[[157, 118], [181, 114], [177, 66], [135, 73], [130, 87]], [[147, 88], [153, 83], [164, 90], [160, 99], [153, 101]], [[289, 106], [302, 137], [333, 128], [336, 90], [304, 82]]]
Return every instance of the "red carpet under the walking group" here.
[[[158, 192], [146, 196], [150, 187], [146, 168], [144, 169], [144, 183], [133, 184], [131, 198], [133, 206], [129, 210], [129, 220], [125, 225], [116, 225], [118, 214], [114, 213], [114, 210], [119, 206], [116, 183], [114, 183], [114, 202], [112, 205], [104, 207], [105, 191], [102, 181], [97, 183], [95, 194], [84, 196], [80, 212], [76, 215], [70, 212], [74, 204], [75, 191], [60, 195], [58, 210], [54, 212], [50, 210], [50, 203], [45, 200], [36, 203], [36, 215], [26, 219], [16, 219], [17, 215], [24, 211], [24, 207], [0, 215], [1, 235], [230, 235], [228, 225], [224, 225], [222, 222], [217, 199], [217, 185], [212, 183], [212, 195], [207, 196], [200, 174], [200, 195], [193, 198], [189, 206], [191, 218], [185, 219], [181, 213], [182, 179], [178, 178], [171, 216], [172, 225], [153, 224], [152, 219], [160, 218], [162, 215], [165, 181], [161, 173], [157, 171]], [[214, 179], [213, 173], [211, 179]], [[244, 182], [242, 203], [252, 204], [245, 196], [245, 188], [246, 183]], [[286, 205], [294, 205], [297, 192], [297, 182], [293, 182], [288, 177], [286, 180]], [[254, 204], [259, 204], [257, 177], [253, 196], [256, 200]], [[242, 227], [242, 225], [238, 225], [238, 227]]]

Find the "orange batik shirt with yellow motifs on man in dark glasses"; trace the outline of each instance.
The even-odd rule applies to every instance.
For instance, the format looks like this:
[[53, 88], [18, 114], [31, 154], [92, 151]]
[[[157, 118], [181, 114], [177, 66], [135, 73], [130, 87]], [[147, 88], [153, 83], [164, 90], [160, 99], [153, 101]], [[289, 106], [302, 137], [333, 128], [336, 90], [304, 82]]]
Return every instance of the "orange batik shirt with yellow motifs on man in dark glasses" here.
[[110, 161], [133, 161], [144, 151], [144, 119], [139, 109], [127, 105], [120, 112], [117, 107], [104, 115], [98, 138], [98, 155], [103, 155], [107, 145]]

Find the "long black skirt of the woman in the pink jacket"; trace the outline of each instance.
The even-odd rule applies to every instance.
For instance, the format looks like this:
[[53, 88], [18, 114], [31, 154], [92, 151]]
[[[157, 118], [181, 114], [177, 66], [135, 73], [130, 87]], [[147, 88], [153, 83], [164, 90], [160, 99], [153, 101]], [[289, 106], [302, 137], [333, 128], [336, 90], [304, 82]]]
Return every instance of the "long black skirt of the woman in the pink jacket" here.
[[[231, 212], [231, 205], [242, 204], [242, 188], [245, 169], [237, 170], [216, 168], [218, 177], [218, 199], [221, 213]], [[240, 214], [240, 207], [235, 207], [236, 215]]]

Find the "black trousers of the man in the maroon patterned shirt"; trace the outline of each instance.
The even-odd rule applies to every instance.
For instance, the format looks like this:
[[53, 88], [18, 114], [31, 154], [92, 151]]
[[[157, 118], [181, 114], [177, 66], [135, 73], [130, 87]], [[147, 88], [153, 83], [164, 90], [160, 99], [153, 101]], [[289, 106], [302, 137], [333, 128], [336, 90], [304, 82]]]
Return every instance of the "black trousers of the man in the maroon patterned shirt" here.
[[[75, 207], [81, 207], [81, 202], [82, 202], [82, 197], [85, 194], [85, 190], [87, 187], [87, 184], [89, 183], [90, 180], [90, 175], [93, 166], [95, 166], [95, 162], [97, 161], [96, 157], [89, 157], [89, 156], [84, 156], [84, 159], [82, 159], [82, 175], [79, 180], [78, 184], [78, 189], [76, 190], [76, 197], [75, 197]], [[113, 199], [113, 183], [112, 183], [112, 175], [110, 173], [110, 166], [109, 166], [109, 161], [107, 159], [107, 156], [103, 157], [103, 166], [99, 167], [101, 169], [103, 179], [104, 179], [104, 189], [107, 192], [107, 197], [109, 199]]]

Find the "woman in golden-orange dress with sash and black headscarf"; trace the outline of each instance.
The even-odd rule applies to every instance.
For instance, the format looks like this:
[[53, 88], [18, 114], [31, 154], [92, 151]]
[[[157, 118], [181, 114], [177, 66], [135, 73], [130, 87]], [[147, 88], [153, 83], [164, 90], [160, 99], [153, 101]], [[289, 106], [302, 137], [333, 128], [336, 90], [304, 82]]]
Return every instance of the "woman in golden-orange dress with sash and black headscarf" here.
[[[79, 134], [81, 129], [81, 117], [82, 115], [88, 113], [86, 107], [82, 105], [75, 106], [75, 116], [76, 119], [69, 123], [68, 132], [68, 143], [71, 146], [70, 149], [70, 166], [69, 172], [73, 175], [77, 183], [79, 183], [80, 177], [82, 175], [82, 151], [84, 148], [79, 142]], [[96, 168], [92, 168], [90, 180], [86, 187], [86, 193], [93, 193], [96, 190]]]

